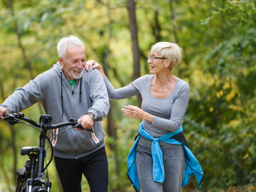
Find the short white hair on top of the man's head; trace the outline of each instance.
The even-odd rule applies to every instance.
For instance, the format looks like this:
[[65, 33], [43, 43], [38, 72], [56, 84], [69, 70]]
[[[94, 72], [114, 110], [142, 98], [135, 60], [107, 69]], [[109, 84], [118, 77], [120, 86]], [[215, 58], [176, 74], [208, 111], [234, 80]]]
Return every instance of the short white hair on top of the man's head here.
[[66, 50], [68, 47], [70, 46], [82, 46], [84, 50], [86, 50], [84, 48], [84, 43], [75, 35], [67, 35], [65, 37], [62, 37], [57, 45], [57, 51], [58, 51], [58, 55], [59, 57], [61, 57], [62, 59], [65, 60], [65, 56], [66, 56]]

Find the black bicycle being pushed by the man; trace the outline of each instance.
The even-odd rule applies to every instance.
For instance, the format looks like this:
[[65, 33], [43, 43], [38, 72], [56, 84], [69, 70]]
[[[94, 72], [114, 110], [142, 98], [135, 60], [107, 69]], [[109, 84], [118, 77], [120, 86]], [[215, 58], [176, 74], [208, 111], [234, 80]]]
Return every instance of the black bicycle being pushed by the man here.
[[[77, 120], [74, 118], [71, 118], [69, 122], [62, 122], [54, 125], [51, 124], [51, 121], [52, 121], [51, 115], [41, 115], [39, 118], [40, 123], [37, 123], [32, 119], [25, 117], [23, 113], [7, 114], [6, 117], [0, 117], [0, 118], [6, 120], [11, 125], [16, 123], [27, 124], [28, 126], [31, 126], [35, 130], [40, 132], [39, 147], [26, 146], [26, 147], [23, 147], [21, 150], [20, 155], [22, 156], [28, 155], [29, 160], [26, 161], [25, 167], [21, 167], [16, 170], [17, 186], [16, 186], [15, 192], [39, 192], [39, 191], [50, 192], [51, 191], [52, 183], [49, 181], [47, 167], [49, 166], [49, 164], [53, 159], [53, 146], [52, 146], [52, 141], [47, 136], [48, 130], [72, 125], [72, 127], [70, 127], [69, 129], [78, 128], [81, 130], [94, 132], [93, 129], [87, 129], [87, 128], [84, 129], [80, 124], [80, 122], [77, 122]], [[22, 120], [27, 121], [28, 123]], [[69, 129], [66, 129], [64, 131], [67, 131]], [[59, 136], [64, 131], [60, 132], [55, 137]], [[55, 137], [53, 139], [55, 139]], [[49, 141], [50, 143], [49, 146], [51, 146], [51, 149], [52, 149], [52, 155], [48, 163], [46, 162], [46, 154], [49, 146], [47, 147], [47, 150], [45, 150], [46, 139]], [[46, 163], [45, 167], [44, 167], [44, 163]]]

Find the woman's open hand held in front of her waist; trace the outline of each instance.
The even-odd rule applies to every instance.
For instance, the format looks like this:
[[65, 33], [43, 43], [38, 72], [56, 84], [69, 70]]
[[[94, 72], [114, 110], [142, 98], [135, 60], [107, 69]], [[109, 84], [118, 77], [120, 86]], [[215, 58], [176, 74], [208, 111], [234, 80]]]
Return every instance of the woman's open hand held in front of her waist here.
[[124, 106], [125, 109], [121, 109], [124, 115], [133, 119], [145, 119], [146, 121], [152, 123], [153, 115], [144, 112], [142, 109], [138, 108], [138, 106], [127, 105]]

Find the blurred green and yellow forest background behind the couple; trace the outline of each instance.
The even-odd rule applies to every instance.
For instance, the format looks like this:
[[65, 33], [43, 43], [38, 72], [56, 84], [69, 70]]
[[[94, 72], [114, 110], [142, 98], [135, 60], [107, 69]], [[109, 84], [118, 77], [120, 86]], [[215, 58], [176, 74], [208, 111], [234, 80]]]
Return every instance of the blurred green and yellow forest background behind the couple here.
[[[176, 42], [183, 54], [173, 73], [190, 86], [183, 131], [205, 174], [200, 190], [191, 176], [183, 192], [256, 191], [255, 3], [0, 0], [0, 103], [56, 63], [57, 42], [67, 34], [85, 43], [87, 60], [98, 61], [116, 89], [149, 73], [152, 45]], [[126, 158], [140, 120], [120, 109], [140, 102], [139, 97], [111, 101], [102, 122], [109, 191], [135, 191], [126, 176]], [[24, 113], [39, 121], [44, 112], [35, 104]], [[0, 191], [14, 191], [15, 170], [27, 160], [20, 149], [38, 146], [38, 138], [29, 126], [0, 122]], [[48, 171], [52, 191], [62, 191], [54, 161]], [[82, 189], [90, 191], [84, 178]]]

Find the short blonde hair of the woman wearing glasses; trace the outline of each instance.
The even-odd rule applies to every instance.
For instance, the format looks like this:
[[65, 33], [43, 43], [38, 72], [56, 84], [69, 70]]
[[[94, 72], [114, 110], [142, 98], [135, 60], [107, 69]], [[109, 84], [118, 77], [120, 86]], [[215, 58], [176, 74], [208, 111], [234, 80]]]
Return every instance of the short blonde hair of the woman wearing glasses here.
[[150, 54], [153, 52], [157, 52], [161, 57], [166, 59], [170, 59], [172, 62], [170, 63], [169, 69], [172, 70], [176, 67], [181, 61], [181, 53], [182, 49], [172, 42], [158, 42], [151, 48]]

